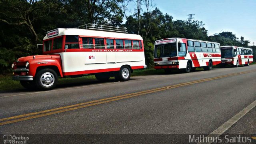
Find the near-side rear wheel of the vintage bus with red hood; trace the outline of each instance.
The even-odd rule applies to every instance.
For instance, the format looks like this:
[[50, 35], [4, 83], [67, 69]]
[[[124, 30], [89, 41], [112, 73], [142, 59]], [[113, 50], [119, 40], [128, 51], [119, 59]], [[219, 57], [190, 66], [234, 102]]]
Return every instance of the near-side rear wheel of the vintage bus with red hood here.
[[122, 66], [120, 70], [115, 74], [115, 79], [121, 82], [129, 80], [130, 77], [131, 77], [131, 70], [129, 66]]

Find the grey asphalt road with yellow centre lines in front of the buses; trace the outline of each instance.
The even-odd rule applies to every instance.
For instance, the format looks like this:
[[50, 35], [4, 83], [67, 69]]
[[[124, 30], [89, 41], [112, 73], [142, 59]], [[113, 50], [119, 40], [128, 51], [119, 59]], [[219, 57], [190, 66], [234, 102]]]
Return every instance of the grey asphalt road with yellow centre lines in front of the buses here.
[[[256, 100], [255, 77], [256, 65], [250, 65], [5, 92], [0, 94], [0, 119], [46, 115], [2, 124], [0, 134], [210, 134]], [[65, 111], [69, 107], [64, 106], [75, 109]], [[42, 112], [54, 108], [64, 111]]]

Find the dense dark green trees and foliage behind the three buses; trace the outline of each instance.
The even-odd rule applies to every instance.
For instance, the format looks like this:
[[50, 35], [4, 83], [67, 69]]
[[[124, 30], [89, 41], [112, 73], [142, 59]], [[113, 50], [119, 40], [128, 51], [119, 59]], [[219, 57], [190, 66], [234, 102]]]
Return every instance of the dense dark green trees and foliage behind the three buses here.
[[[74, 28], [87, 23], [123, 26], [129, 33], [144, 39], [146, 64], [152, 67], [154, 41], [180, 37], [220, 42], [223, 45], [248, 47], [249, 42], [232, 32], [208, 36], [204, 23], [198, 20], [173, 20], [149, 0], [139, 0], [127, 14], [133, 0], [0, 0], [0, 73], [10, 70], [14, 60], [41, 54], [46, 32], [55, 28]], [[137, 4], [137, 1], [134, 0]], [[146, 8], [143, 10], [141, 7]], [[256, 47], [254, 52], [256, 52]], [[254, 53], [254, 56], [256, 54]], [[255, 59], [255, 58], [254, 58]]]

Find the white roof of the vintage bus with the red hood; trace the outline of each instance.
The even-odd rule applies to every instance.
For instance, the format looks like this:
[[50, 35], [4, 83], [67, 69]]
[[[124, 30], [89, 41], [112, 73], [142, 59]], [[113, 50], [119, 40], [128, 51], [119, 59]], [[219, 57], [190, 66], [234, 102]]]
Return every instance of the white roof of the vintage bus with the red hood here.
[[[48, 33], [53, 32], [53, 36], [48, 37]], [[56, 33], [57, 32], [57, 33]], [[46, 36], [44, 36], [43, 40], [47, 40], [49, 38], [54, 38], [57, 36], [63, 35], [79, 35], [79, 36], [96, 36], [96, 37], [108, 37], [108, 38], [125, 38], [125, 39], [136, 39], [142, 40], [142, 37], [137, 34], [125, 34], [118, 32], [105, 32], [100, 30], [87, 30], [87, 29], [78, 29], [78, 28], [57, 28], [55, 30], [51, 30], [47, 32]]]

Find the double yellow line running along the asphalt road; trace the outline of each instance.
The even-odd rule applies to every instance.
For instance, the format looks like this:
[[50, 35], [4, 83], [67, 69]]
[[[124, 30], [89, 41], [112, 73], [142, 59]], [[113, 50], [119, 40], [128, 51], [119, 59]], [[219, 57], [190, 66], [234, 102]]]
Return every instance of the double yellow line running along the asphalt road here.
[[122, 99], [125, 99], [125, 98], [131, 98], [131, 97], [134, 97], [134, 96], [140, 96], [140, 95], [144, 95], [144, 94], [150, 94], [150, 93], [153, 93], [153, 92], [159, 92], [159, 91], [168, 90], [168, 89], [172, 89], [172, 88], [178, 88], [178, 87], [181, 87], [181, 86], [188, 86], [188, 85], [196, 84], [196, 83], [200, 83], [200, 82], [216, 80], [216, 79], [224, 78], [224, 77], [228, 77], [228, 76], [235, 76], [235, 75], [238, 75], [238, 74], [245, 74], [245, 73], [253, 72], [253, 71], [254, 70], [246, 71], [246, 72], [239, 72], [239, 73], [234, 73], [234, 74], [228, 74], [228, 75], [224, 75], [224, 76], [217, 76], [217, 77], [214, 77], [214, 78], [206, 78], [206, 79], [203, 79], [203, 80], [196, 80], [196, 81], [192, 81], [192, 82], [186, 82], [186, 83], [182, 83], [182, 84], [175, 84], [175, 85], [172, 85], [172, 86], [165, 86], [165, 87], [161, 87], [161, 88], [155, 88], [155, 89], [145, 90], [145, 91], [141, 91], [141, 92], [135, 92], [135, 93], [131, 93], [131, 94], [124, 94], [124, 95], [121, 95], [121, 96], [103, 98], [103, 99], [100, 99], [100, 100], [93, 100], [93, 101], [90, 101], [90, 102], [84, 102], [84, 103], [80, 103], [80, 104], [74, 104], [74, 105], [64, 106], [64, 107], [60, 107], [60, 108], [54, 108], [54, 109], [50, 109], [50, 110], [43, 110], [43, 111], [39, 111], [39, 112], [32, 112], [32, 113], [28, 113], [28, 114], [22, 114], [22, 115], [12, 116], [12, 117], [8, 117], [8, 118], [2, 118], [2, 119], [0, 119], [0, 126], [5, 125], [5, 124], [11, 124], [11, 123], [14, 123], [14, 122], [30, 120], [30, 119], [33, 119], [33, 118], [40, 118], [40, 117], [48, 116], [48, 115], [52, 115], [52, 114], [58, 114], [58, 113], [61, 113], [61, 112], [67, 112], [67, 111], [71, 111], [71, 110], [85, 108], [85, 107], [88, 107], [88, 106], [95, 106], [95, 105], [98, 105], [98, 104], [113, 102], [113, 101], [116, 101], [116, 100], [122, 100]]

